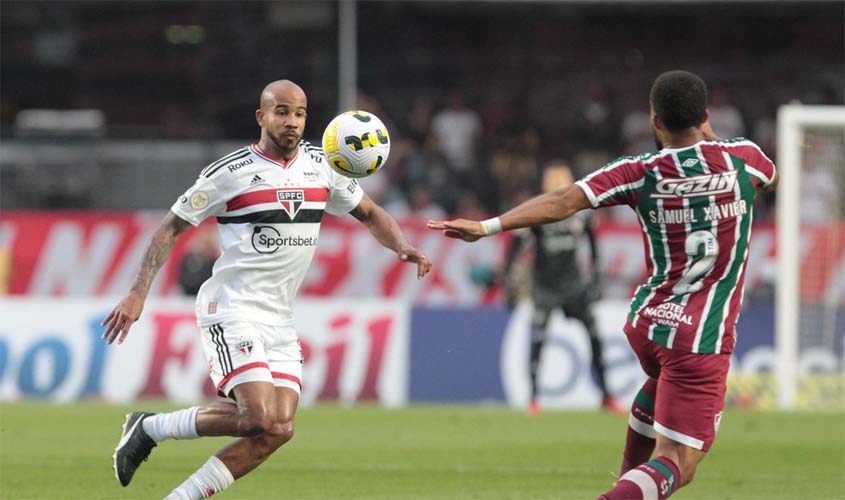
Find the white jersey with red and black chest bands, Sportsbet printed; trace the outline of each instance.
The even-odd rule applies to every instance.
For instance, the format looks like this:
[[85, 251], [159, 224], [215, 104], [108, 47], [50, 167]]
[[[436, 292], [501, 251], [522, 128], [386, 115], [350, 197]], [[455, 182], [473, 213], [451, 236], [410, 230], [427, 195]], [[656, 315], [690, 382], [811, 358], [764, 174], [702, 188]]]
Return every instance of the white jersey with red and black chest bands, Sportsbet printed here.
[[252, 144], [208, 165], [171, 207], [194, 226], [217, 218], [222, 253], [197, 294], [197, 323], [292, 325], [291, 303], [314, 256], [323, 212], [346, 214], [363, 196], [354, 179], [332, 170], [322, 149], [305, 141], [288, 161]]

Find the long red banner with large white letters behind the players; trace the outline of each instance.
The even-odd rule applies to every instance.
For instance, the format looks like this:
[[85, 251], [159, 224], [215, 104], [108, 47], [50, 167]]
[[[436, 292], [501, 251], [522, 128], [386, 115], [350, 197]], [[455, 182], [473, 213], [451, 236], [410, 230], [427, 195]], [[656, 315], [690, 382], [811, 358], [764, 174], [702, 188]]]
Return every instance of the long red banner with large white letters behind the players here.
[[[11, 250], [9, 293], [30, 296], [105, 296], [125, 292], [155, 230], [160, 212], [6, 212], [0, 247]], [[472, 245], [443, 238], [423, 220], [400, 220], [406, 236], [434, 263], [417, 280], [414, 266], [399, 262], [351, 217], [323, 219], [320, 242], [300, 294], [311, 297], [392, 297], [429, 305], [477, 305], [500, 300], [497, 287], [473, 279], [500, 265], [508, 235]], [[213, 228], [213, 221], [203, 226]], [[754, 227], [746, 293], [771, 297], [777, 276], [771, 224]], [[645, 272], [642, 231], [635, 223], [597, 227], [605, 297], [628, 298]], [[180, 294], [179, 263], [198, 235], [180, 238], [151, 293]], [[582, 252], [586, 258], [588, 252]], [[801, 241], [802, 295], [810, 301], [845, 297], [845, 225], [806, 227]]]

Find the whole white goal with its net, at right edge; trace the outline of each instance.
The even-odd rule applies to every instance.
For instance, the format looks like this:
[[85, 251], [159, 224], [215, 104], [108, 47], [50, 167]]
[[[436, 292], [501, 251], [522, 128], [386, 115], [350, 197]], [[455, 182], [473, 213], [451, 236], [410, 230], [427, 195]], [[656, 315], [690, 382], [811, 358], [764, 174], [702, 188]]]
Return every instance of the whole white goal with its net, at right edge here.
[[842, 410], [845, 106], [783, 106], [777, 127], [777, 406]]

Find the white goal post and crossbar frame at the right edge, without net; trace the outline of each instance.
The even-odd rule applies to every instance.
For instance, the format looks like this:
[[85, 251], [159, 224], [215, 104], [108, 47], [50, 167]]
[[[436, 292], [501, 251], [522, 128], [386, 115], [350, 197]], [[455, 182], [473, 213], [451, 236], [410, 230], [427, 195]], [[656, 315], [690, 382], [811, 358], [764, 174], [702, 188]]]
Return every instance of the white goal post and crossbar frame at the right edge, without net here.
[[[840, 150], [839, 165], [829, 165], [825, 168], [830, 168], [833, 172], [833, 179], [837, 189], [839, 198], [845, 197], [845, 173], [842, 164], [842, 157], [845, 156], [845, 106], [804, 106], [804, 105], [785, 105], [778, 110], [777, 117], [777, 166], [780, 175], [780, 184], [777, 189], [777, 253], [778, 253], [778, 272], [776, 282], [775, 295], [775, 349], [777, 360], [777, 395], [778, 407], [783, 410], [792, 410], [798, 407], [798, 387], [800, 377], [802, 376], [800, 369], [800, 356], [802, 353], [801, 337], [806, 330], [814, 328], [812, 326], [805, 327], [802, 323], [804, 314], [802, 314], [803, 301], [802, 289], [806, 286], [802, 284], [802, 214], [801, 214], [801, 182], [802, 170], [806, 161], [806, 140], [810, 133], [821, 134], [822, 136], [829, 136], [830, 141], [839, 141]], [[827, 139], [826, 139], [827, 140]], [[833, 160], [836, 162], [837, 160]], [[836, 202], [831, 206], [831, 218], [833, 226], [832, 234], [839, 235], [842, 231], [842, 203]], [[836, 237], [836, 236], [834, 236]], [[839, 245], [833, 245], [833, 251], [838, 252]], [[812, 256], [809, 256], [812, 258]], [[835, 259], [837, 262], [839, 258]], [[839, 263], [840, 266], [845, 266], [845, 263]], [[833, 272], [836, 273], [838, 266], [834, 266]], [[845, 272], [845, 271], [842, 271]], [[833, 277], [833, 280], [843, 279], [842, 277]], [[826, 293], [830, 293], [826, 291]], [[833, 340], [830, 342], [831, 349], [836, 352], [837, 336], [843, 336], [845, 333], [835, 331], [839, 328], [839, 310], [842, 308], [841, 297], [829, 297], [828, 303], [832, 303], [831, 308], [827, 308], [827, 313], [833, 315], [832, 325], [834, 332], [832, 334]], [[818, 310], [816, 310], [818, 313]], [[829, 324], [830, 321], [827, 321]], [[804, 327], [804, 329], [802, 329]], [[814, 333], [814, 332], [813, 332]], [[839, 355], [838, 364], [840, 368], [838, 374], [834, 376], [842, 376], [843, 368], [845, 368], [845, 359]], [[842, 389], [842, 382], [834, 380], [838, 390]], [[834, 389], [836, 392], [836, 389]], [[835, 397], [835, 396], [834, 396]], [[839, 396], [842, 397], [841, 395]], [[842, 401], [839, 401], [842, 404]]]

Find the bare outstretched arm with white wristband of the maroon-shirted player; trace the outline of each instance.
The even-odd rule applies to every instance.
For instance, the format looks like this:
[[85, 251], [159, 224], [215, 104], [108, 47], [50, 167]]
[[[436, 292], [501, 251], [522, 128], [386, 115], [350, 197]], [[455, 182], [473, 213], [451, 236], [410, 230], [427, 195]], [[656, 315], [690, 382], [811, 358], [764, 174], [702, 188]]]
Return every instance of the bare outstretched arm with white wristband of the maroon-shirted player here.
[[476, 241], [502, 231], [563, 220], [585, 208], [590, 208], [590, 200], [581, 188], [572, 185], [532, 198], [493, 219], [428, 221], [428, 227], [443, 231], [449, 238]]

